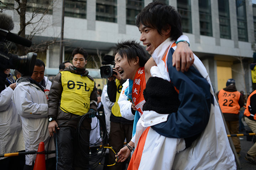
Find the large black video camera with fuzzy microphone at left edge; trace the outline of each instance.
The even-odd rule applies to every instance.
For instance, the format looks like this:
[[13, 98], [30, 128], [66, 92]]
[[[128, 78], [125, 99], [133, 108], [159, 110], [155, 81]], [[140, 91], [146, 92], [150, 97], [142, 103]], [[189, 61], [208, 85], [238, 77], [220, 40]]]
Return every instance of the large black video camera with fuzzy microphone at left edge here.
[[[27, 47], [30, 47], [32, 44], [30, 40], [9, 32], [13, 28], [12, 18], [4, 13], [0, 13], [0, 71], [11, 68], [18, 70], [23, 76], [31, 76], [35, 67], [37, 53], [30, 52], [25, 56], [9, 53], [6, 47], [7, 41]], [[4, 30], [7, 30], [7, 32]]]

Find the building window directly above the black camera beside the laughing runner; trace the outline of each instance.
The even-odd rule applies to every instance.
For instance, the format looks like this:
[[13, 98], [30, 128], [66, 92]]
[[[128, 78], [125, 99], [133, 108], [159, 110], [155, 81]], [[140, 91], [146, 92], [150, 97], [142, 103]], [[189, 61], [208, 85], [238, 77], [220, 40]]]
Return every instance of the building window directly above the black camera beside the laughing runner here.
[[96, 20], [116, 23], [116, 0], [96, 0]]

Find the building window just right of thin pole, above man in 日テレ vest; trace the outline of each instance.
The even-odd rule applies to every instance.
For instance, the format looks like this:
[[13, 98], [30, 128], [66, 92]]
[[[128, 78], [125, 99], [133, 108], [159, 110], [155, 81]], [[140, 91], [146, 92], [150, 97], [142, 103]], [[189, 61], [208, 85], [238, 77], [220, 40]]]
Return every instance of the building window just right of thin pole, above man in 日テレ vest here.
[[65, 0], [65, 16], [86, 18], [86, 0]]

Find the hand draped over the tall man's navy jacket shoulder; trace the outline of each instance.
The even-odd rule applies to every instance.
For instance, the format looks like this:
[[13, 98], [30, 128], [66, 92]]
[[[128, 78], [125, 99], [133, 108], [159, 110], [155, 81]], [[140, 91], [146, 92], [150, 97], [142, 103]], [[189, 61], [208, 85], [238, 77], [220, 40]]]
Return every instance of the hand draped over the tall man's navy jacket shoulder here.
[[[191, 60], [190, 60], [191, 58]], [[188, 71], [194, 63], [194, 55], [187, 42], [179, 42], [172, 55], [172, 66], [176, 66], [177, 71]]]

